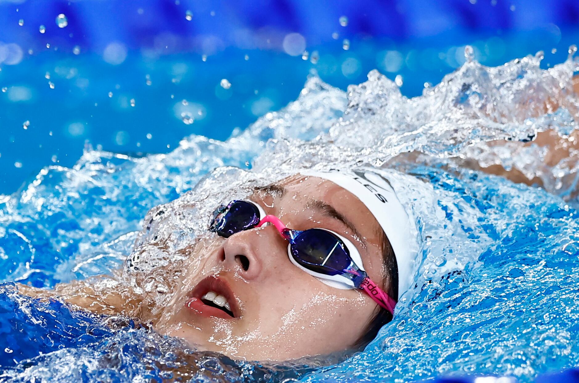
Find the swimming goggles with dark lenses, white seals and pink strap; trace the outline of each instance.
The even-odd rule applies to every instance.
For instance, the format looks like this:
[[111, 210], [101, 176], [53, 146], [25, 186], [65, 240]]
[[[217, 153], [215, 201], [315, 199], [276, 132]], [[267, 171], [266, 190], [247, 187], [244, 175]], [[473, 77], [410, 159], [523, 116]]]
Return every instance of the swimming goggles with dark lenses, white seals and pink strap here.
[[288, 256], [295, 266], [338, 289], [361, 289], [394, 315], [396, 301], [376, 285], [362, 267], [360, 253], [349, 240], [328, 229], [291, 230], [251, 201], [233, 200], [213, 213], [210, 231], [229, 238], [243, 230], [271, 223], [290, 242]]

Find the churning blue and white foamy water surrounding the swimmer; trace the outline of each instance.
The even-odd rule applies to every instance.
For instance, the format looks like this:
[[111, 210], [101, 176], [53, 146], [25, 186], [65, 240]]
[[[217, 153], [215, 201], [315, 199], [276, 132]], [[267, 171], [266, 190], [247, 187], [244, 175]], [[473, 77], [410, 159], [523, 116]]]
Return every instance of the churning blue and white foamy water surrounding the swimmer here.
[[[571, 150], [570, 160], [551, 163], [544, 149], [521, 141], [545, 130], [564, 138], [577, 130], [571, 78], [578, 68], [570, 57], [543, 70], [541, 57], [489, 68], [468, 56], [411, 99], [376, 71], [347, 93], [312, 75], [296, 101], [225, 142], [192, 136], [171, 153], [145, 157], [87, 147], [75, 167], [47, 167], [20, 192], [0, 196], [4, 281], [53, 286], [123, 267], [118, 278], [162, 306], [173, 289], [167, 268], [178, 268], [179, 249], [206, 233], [220, 202], [303, 168], [363, 162], [395, 168], [407, 174], [393, 186], [417, 223], [416, 283], [364, 352], [329, 367], [321, 365], [331, 359], [275, 367], [233, 362], [145, 327], [43, 306], [6, 286], [0, 344], [9, 346], [0, 349], [0, 376], [96, 381], [120, 378], [115, 371], [123, 369], [123, 379], [141, 381], [189, 366], [198, 381], [220, 373], [237, 381], [306, 372], [309, 382], [449, 373], [530, 381], [576, 366], [579, 201], [570, 191], [577, 189], [579, 156]], [[498, 140], [512, 142], [488, 145]], [[468, 161], [519, 169], [544, 189], [468, 170]], [[143, 220], [159, 204], [166, 205]], [[166, 251], [150, 246], [159, 237]], [[98, 331], [87, 330], [94, 334], [87, 338], [64, 328], [79, 321]], [[57, 334], [56, 341], [41, 341]], [[17, 352], [14, 344], [29, 346]]]

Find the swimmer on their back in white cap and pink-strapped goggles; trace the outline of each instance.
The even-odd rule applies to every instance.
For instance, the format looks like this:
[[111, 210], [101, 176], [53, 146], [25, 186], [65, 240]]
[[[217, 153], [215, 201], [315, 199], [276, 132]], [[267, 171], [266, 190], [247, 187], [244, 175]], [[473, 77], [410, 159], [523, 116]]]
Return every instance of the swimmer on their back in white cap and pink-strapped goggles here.
[[[387, 177], [372, 168], [298, 174], [214, 207], [210, 235], [187, 250], [194, 262], [157, 315], [134, 290], [102, 289], [110, 280], [20, 292], [138, 315], [159, 333], [245, 359], [357, 349], [391, 321], [412, 282], [416, 239]], [[138, 269], [138, 253], [128, 262]]]

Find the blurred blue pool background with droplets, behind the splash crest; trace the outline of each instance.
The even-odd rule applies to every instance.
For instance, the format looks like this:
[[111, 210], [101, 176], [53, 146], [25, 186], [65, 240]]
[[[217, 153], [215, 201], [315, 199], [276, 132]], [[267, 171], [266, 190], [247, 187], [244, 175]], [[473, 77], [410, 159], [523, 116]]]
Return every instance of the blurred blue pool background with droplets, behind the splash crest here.
[[[10, 194], [46, 165], [74, 164], [86, 141], [163, 153], [189, 134], [225, 139], [295, 100], [312, 69], [346, 89], [378, 68], [401, 75], [412, 97], [459, 67], [466, 44], [485, 65], [543, 50], [547, 67], [579, 41], [579, 3], [11, 0], [0, 2], [0, 25], [0, 194]], [[284, 51], [292, 33], [319, 53], [317, 64]], [[105, 62], [107, 46], [120, 64]], [[193, 124], [182, 121], [182, 100]]]

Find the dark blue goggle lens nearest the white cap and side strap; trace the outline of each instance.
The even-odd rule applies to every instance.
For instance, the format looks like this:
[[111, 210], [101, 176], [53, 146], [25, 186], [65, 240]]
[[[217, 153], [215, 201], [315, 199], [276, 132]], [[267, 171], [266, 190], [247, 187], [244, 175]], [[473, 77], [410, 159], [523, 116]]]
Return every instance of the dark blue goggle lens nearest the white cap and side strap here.
[[344, 274], [352, 262], [344, 242], [321, 229], [299, 232], [291, 240], [290, 251], [301, 266], [325, 275]]

